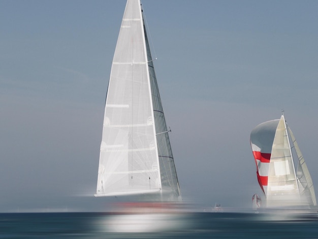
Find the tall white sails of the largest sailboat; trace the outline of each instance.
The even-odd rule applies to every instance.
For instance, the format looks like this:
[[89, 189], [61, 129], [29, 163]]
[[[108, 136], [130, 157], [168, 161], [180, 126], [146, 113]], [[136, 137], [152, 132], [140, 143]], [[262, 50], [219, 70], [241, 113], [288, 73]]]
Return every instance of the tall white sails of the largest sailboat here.
[[168, 133], [141, 3], [128, 0], [108, 84], [95, 196], [181, 200]]

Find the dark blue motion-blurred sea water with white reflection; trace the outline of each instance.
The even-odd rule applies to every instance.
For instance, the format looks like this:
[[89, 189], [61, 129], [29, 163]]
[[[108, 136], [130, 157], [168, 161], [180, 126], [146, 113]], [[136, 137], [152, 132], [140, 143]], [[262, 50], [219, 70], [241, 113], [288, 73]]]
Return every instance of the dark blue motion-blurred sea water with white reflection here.
[[0, 238], [318, 238], [316, 215], [0, 214]]

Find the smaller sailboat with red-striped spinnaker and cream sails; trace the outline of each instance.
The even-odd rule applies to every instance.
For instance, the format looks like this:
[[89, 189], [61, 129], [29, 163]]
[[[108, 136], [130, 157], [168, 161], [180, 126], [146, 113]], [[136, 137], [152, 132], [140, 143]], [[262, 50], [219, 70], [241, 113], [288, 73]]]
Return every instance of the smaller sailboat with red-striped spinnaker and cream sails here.
[[308, 167], [283, 113], [280, 119], [256, 126], [250, 144], [267, 207], [316, 205]]

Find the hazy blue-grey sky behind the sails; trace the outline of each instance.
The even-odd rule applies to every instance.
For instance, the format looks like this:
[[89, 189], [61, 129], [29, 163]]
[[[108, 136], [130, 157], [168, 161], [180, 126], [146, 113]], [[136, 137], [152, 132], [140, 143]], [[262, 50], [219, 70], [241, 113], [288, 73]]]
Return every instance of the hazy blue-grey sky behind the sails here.
[[[125, 2], [0, 0], [0, 212], [107, 210], [93, 194]], [[143, 8], [183, 198], [264, 198], [249, 134], [281, 109], [318, 193], [318, 2]]]

